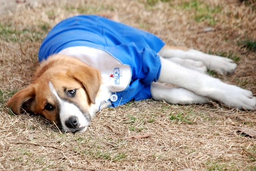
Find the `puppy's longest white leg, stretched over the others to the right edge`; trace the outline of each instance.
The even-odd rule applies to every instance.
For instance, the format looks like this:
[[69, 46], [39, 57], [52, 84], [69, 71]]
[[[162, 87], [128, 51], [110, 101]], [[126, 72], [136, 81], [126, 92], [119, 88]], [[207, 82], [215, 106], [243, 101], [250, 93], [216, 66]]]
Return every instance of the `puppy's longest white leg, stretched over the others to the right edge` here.
[[199, 96], [217, 100], [238, 109], [256, 110], [256, 97], [251, 91], [223, 83], [221, 80], [182, 67], [160, 57], [159, 81], [176, 84]]

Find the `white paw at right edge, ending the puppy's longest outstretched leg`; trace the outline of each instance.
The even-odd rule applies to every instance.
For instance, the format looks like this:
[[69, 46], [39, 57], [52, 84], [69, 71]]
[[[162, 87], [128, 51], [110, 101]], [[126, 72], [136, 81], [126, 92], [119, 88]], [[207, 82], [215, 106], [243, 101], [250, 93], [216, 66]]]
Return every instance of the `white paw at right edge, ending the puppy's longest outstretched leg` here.
[[251, 91], [244, 90], [237, 86], [229, 87], [229, 90], [224, 92], [223, 98], [219, 101], [222, 103], [244, 110], [256, 110], [256, 97], [253, 96]]

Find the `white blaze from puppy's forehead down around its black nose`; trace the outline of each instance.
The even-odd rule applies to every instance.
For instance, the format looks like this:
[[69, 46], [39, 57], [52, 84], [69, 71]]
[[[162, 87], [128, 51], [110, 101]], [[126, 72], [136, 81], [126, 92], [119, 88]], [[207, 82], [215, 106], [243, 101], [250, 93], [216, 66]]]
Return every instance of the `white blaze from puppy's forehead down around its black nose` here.
[[84, 127], [82, 130], [80, 130], [80, 132], [85, 131], [90, 122], [86, 120], [86, 118], [84, 117], [84, 114], [74, 104], [65, 102], [64, 100], [62, 100], [57, 94], [51, 81], [49, 81], [49, 88], [51, 92], [54, 94], [54, 96], [56, 96], [59, 102], [59, 106], [60, 106], [59, 115], [60, 115], [60, 122], [61, 122], [63, 131], [71, 132], [71, 130], [65, 125], [65, 121], [67, 121], [67, 119], [72, 116], [78, 117], [78, 122], [80, 124], [79, 128]]

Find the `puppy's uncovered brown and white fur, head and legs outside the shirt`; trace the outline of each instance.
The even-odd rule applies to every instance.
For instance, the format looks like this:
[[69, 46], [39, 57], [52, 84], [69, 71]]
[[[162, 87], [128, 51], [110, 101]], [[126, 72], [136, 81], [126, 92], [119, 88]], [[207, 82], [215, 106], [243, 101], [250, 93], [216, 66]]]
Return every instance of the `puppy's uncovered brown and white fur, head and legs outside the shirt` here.
[[[161, 73], [158, 82], [151, 85], [153, 99], [171, 104], [216, 100], [234, 108], [256, 110], [256, 97], [251, 91], [205, 74], [207, 69], [233, 73], [237, 66], [233, 60], [168, 45], [159, 55]], [[54, 54], [38, 66], [33, 83], [12, 96], [7, 104], [15, 114], [27, 111], [43, 115], [64, 132], [75, 133], [87, 129], [91, 117], [109, 105], [110, 96], [97, 69], [79, 59]]]

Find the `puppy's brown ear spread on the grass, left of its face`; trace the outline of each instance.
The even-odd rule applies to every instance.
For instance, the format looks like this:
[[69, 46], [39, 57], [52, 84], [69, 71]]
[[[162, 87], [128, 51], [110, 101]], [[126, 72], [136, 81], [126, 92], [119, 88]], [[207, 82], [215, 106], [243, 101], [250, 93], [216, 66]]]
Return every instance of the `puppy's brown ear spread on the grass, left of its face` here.
[[31, 84], [27, 88], [24, 88], [16, 92], [12, 98], [7, 102], [7, 105], [11, 107], [13, 113], [22, 114], [22, 109], [27, 112], [33, 111], [35, 103], [35, 88], [34, 84]]

